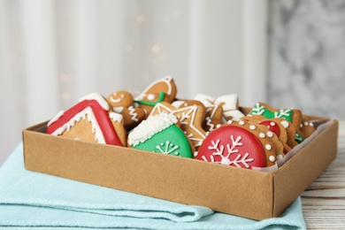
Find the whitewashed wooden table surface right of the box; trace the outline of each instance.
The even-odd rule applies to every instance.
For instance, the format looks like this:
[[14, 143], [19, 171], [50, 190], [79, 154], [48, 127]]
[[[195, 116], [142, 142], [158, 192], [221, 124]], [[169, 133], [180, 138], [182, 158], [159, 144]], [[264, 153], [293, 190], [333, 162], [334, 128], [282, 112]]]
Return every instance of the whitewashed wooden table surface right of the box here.
[[308, 229], [345, 229], [345, 120], [340, 121], [338, 156], [302, 195]]

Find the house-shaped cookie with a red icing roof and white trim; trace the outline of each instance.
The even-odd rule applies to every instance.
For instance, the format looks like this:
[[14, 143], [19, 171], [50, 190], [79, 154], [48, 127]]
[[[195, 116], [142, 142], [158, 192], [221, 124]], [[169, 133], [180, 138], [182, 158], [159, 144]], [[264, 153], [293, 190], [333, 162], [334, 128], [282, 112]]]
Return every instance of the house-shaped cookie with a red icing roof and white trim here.
[[87, 142], [126, 146], [122, 115], [99, 94], [89, 94], [67, 111], [60, 111], [47, 125], [47, 134]]

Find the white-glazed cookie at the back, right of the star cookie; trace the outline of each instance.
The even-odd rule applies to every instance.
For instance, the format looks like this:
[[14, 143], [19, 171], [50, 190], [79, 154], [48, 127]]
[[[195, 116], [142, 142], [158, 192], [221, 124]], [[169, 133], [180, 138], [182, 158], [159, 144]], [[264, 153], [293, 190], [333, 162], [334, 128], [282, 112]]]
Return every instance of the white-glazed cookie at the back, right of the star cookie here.
[[203, 94], [198, 94], [195, 97], [195, 99], [203, 103], [210, 102], [212, 104], [220, 106], [223, 110], [223, 119], [222, 119], [223, 123], [226, 123], [227, 120], [231, 120], [231, 119], [236, 120], [244, 116], [242, 111], [240, 111], [239, 100], [236, 94], [219, 96], [219, 97], [212, 97], [212, 96], [207, 96]]

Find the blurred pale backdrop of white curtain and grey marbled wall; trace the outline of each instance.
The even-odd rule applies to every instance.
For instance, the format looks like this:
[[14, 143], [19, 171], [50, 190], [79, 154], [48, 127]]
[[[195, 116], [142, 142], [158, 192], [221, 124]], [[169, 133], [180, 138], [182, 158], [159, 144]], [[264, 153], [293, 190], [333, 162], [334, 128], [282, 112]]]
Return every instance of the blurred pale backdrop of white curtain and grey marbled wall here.
[[27, 126], [91, 92], [173, 76], [345, 119], [345, 0], [0, 0], [0, 165]]

